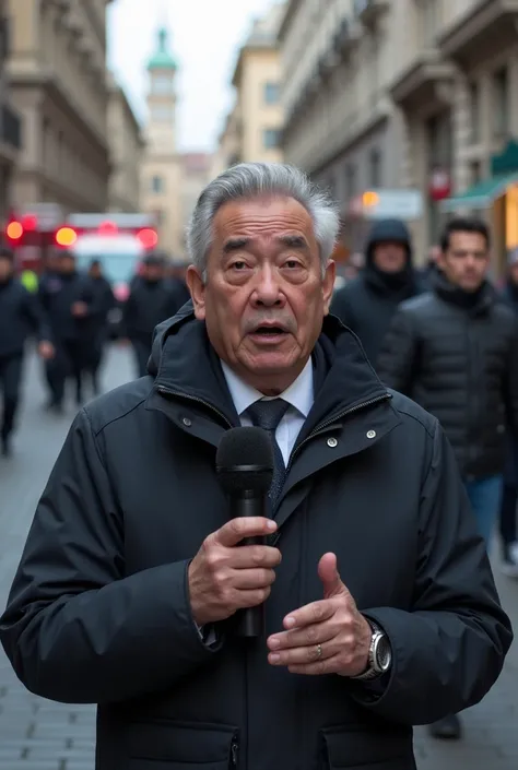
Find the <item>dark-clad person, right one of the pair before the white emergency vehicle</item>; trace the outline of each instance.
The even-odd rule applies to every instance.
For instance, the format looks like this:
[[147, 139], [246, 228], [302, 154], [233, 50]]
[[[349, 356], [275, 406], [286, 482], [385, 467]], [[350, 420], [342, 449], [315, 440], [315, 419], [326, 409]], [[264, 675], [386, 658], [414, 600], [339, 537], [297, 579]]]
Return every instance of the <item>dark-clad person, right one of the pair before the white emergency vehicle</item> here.
[[86, 369], [92, 379], [92, 388], [99, 393], [98, 372], [103, 360], [103, 351], [108, 336], [108, 313], [115, 307], [115, 296], [111, 284], [103, 274], [103, 265], [98, 259], [91, 262], [89, 276], [97, 312], [87, 323]]

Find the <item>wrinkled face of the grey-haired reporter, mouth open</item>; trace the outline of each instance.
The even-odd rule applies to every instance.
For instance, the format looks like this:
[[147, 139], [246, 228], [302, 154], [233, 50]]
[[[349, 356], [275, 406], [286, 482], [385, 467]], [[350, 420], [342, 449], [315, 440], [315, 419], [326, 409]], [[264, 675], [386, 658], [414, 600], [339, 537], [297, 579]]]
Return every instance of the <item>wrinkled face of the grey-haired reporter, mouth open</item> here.
[[227, 203], [213, 223], [207, 281], [187, 280], [217, 355], [266, 394], [284, 391], [320, 334], [334, 283], [322, 277], [313, 221], [291, 198]]

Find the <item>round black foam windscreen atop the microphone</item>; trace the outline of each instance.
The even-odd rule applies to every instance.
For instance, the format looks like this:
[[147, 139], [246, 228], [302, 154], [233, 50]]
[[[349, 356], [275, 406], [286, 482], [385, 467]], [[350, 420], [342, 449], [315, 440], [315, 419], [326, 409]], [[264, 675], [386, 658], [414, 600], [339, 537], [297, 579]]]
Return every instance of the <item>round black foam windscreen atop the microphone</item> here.
[[273, 477], [273, 447], [266, 430], [256, 427], [227, 430], [217, 447], [216, 472], [227, 493], [268, 491]]

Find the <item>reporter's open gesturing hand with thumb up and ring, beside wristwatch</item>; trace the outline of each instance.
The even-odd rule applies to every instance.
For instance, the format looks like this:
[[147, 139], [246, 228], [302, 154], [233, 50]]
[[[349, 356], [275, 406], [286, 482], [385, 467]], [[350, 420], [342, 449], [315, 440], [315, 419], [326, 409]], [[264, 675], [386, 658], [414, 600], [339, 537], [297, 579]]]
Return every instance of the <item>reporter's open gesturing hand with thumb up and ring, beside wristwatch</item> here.
[[323, 600], [284, 618], [285, 631], [268, 639], [272, 665], [293, 674], [357, 676], [368, 665], [372, 629], [342, 583], [334, 554], [318, 564]]

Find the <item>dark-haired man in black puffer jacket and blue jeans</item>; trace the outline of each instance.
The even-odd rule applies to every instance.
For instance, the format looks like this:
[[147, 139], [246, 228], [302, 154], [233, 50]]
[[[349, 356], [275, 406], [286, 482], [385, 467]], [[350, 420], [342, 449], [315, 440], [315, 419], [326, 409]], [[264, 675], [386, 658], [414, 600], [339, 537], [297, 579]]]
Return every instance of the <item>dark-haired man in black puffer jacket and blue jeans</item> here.
[[[484, 223], [451, 220], [438, 266], [434, 291], [404, 303], [393, 318], [378, 374], [440, 422], [488, 543], [502, 496], [506, 427], [518, 427], [517, 324], [486, 280]], [[458, 718], [437, 723], [433, 734], [460, 737]]]

